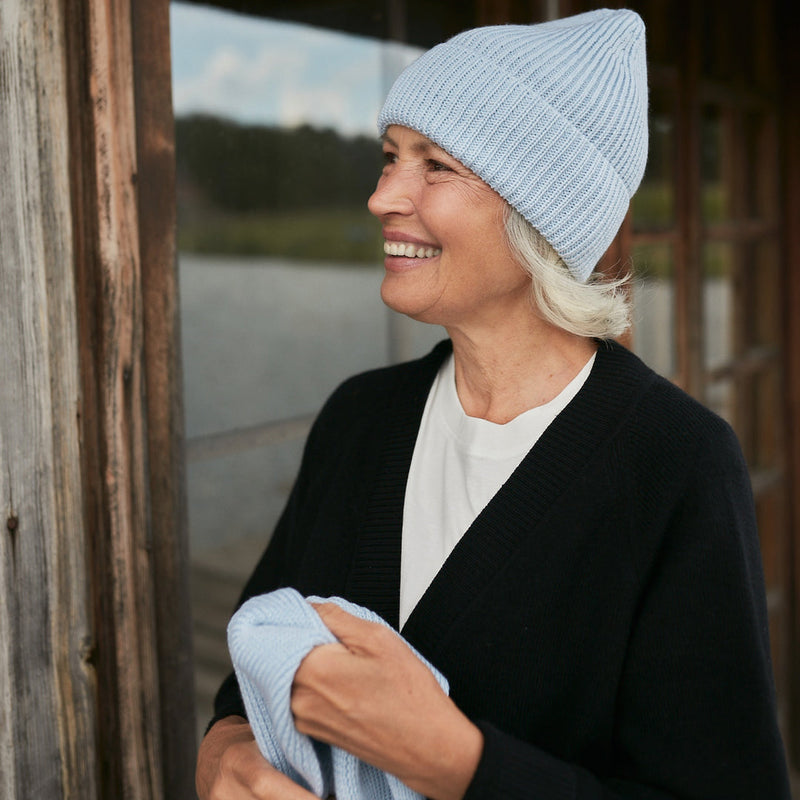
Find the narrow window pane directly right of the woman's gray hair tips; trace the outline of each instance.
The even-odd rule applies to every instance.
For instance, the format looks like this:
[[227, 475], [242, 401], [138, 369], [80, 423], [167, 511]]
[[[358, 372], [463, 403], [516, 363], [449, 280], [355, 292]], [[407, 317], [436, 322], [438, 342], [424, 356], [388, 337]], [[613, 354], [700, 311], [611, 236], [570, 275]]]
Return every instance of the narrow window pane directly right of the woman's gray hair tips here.
[[633, 249], [633, 349], [656, 372], [676, 371], [675, 276], [672, 245]]

